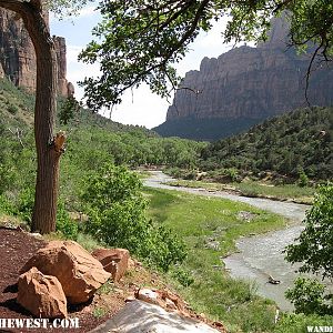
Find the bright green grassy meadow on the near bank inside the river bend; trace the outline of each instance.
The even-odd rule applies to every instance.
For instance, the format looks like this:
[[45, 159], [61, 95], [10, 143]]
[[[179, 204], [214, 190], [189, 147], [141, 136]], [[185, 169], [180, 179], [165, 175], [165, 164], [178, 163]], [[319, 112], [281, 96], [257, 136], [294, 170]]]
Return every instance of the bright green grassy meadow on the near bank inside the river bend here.
[[[222, 321], [230, 332], [272, 332], [273, 302], [255, 295], [255, 285], [231, 279], [221, 258], [235, 251], [241, 235], [262, 233], [286, 224], [283, 218], [229, 200], [191, 195], [176, 191], [145, 189], [149, 215], [182, 238], [189, 249], [184, 263], [168, 276], [198, 312]], [[254, 214], [250, 222], [238, 218], [240, 211]], [[220, 250], [206, 249], [211, 238]], [[190, 272], [194, 283], [184, 287], [176, 272]]]

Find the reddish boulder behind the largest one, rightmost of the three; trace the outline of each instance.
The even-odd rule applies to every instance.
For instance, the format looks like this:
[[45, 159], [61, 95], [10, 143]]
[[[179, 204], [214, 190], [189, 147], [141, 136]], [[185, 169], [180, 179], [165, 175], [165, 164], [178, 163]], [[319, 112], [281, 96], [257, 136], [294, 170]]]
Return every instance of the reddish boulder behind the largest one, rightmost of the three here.
[[130, 253], [125, 249], [97, 249], [92, 255], [101, 262], [107, 272], [111, 273], [114, 282], [118, 282], [128, 270]]

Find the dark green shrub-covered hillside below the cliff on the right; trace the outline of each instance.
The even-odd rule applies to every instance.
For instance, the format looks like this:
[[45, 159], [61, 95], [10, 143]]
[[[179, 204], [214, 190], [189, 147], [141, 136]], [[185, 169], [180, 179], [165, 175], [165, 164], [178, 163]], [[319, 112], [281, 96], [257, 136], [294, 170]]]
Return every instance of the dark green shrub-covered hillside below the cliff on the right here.
[[201, 168], [333, 176], [333, 108], [306, 108], [264, 121], [203, 149]]

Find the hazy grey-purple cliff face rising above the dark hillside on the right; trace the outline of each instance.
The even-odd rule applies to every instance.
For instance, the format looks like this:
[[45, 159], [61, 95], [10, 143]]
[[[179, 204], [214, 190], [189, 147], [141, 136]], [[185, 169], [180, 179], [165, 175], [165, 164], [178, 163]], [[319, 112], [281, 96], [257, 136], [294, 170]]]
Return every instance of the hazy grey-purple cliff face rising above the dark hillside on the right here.
[[[189, 119], [262, 120], [306, 105], [305, 73], [310, 57], [286, 50], [286, 27], [282, 20], [273, 21], [270, 36], [266, 43], [256, 48], [243, 46], [218, 59], [204, 58], [200, 71], [188, 72], [183, 81], [183, 87], [198, 93], [179, 90], [164, 124]], [[309, 90], [312, 104], [333, 104], [332, 69], [331, 65], [331, 70], [312, 73]]]

